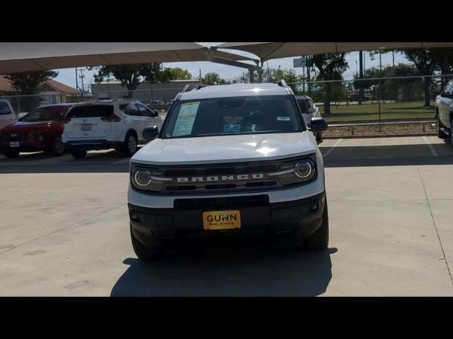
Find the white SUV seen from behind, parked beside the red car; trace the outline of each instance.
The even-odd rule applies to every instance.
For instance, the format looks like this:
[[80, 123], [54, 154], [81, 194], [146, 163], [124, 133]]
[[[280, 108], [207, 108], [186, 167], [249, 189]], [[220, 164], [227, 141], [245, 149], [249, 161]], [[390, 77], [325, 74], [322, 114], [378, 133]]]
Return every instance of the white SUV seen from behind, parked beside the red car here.
[[76, 158], [88, 150], [115, 148], [126, 156], [137, 152], [146, 127], [162, 126], [158, 112], [139, 101], [101, 100], [72, 107], [64, 123], [62, 141]]

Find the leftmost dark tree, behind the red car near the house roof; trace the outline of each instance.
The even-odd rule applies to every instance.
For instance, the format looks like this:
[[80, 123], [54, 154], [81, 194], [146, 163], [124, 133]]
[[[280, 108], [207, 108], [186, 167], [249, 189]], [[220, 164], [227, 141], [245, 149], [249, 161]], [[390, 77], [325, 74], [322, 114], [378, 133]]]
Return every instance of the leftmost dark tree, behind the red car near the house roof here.
[[[38, 87], [47, 80], [55, 78], [58, 75], [56, 71], [34, 71], [23, 73], [11, 73], [5, 76], [11, 86], [21, 95], [36, 94]], [[36, 106], [40, 105], [40, 97], [23, 97], [21, 99], [21, 110], [30, 112]]]

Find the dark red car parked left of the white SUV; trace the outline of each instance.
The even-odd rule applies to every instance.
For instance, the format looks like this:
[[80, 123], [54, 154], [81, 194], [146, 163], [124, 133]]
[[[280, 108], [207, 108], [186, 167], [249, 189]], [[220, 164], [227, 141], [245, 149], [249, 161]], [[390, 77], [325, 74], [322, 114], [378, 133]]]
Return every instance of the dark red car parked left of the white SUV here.
[[41, 106], [28, 113], [16, 124], [0, 130], [0, 153], [17, 157], [21, 152], [43, 150], [50, 155], [62, 155], [63, 124], [74, 104]]

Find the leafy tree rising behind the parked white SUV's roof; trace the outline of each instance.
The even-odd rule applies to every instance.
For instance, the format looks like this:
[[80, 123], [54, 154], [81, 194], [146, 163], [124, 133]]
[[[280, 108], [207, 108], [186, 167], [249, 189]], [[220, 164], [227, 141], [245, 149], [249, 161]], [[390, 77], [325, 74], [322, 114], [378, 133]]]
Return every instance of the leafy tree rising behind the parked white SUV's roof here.
[[96, 69], [97, 72], [93, 75], [96, 83], [101, 83], [105, 78], [113, 76], [117, 81], [120, 81], [121, 85], [127, 88], [128, 97], [133, 97], [134, 90], [144, 81], [149, 83], [166, 81], [164, 78], [165, 74], [162, 72], [162, 65], [158, 62], [124, 66], [101, 66]]

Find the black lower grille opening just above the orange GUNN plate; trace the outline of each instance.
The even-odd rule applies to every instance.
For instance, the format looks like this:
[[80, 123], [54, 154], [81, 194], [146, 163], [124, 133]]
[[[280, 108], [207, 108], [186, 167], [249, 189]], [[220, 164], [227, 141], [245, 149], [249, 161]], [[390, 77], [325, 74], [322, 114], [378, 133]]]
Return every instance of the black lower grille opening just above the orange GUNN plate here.
[[230, 210], [269, 205], [268, 195], [175, 199], [175, 210]]

